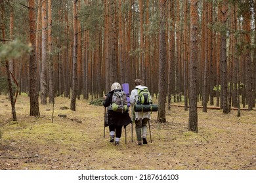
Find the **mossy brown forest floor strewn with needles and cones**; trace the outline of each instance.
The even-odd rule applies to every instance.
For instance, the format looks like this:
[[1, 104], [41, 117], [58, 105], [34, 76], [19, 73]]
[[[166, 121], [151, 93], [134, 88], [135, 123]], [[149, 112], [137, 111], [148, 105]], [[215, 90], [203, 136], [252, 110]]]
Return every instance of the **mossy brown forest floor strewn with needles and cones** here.
[[[198, 109], [198, 133], [188, 132], [188, 111], [171, 107], [166, 124], [152, 113], [148, 144], [133, 142], [127, 126], [119, 146], [104, 138], [104, 107], [77, 100], [74, 112], [70, 99], [57, 97], [54, 105], [40, 105], [41, 116], [29, 116], [30, 99], [19, 95], [18, 121], [12, 121], [11, 103], [0, 95], [0, 169], [2, 170], [255, 170], [256, 112]], [[61, 118], [59, 114], [65, 114]], [[52, 120], [53, 115], [53, 120]]]

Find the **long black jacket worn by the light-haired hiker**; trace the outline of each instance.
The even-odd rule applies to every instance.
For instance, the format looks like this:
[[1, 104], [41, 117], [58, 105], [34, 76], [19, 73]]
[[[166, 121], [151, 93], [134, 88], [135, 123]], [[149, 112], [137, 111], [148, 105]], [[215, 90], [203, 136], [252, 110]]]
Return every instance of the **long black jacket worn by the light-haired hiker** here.
[[[114, 91], [118, 91], [121, 89], [117, 90], [112, 90], [106, 95], [106, 99], [103, 102], [104, 107], [109, 107], [112, 104], [112, 95]], [[108, 114], [110, 116], [110, 124], [115, 124], [115, 125], [123, 125], [126, 127], [129, 125], [131, 121], [131, 117], [129, 116], [128, 110], [126, 112], [120, 113], [120, 112], [114, 112], [113, 110], [107, 110]]]

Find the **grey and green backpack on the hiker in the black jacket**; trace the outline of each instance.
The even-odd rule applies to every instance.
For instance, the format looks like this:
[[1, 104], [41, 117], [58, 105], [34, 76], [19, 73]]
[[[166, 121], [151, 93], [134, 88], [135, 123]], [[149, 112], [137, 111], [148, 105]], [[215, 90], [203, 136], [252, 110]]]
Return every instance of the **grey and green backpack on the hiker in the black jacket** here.
[[125, 112], [127, 111], [127, 98], [126, 93], [123, 90], [114, 91], [112, 95], [112, 110], [114, 112]]

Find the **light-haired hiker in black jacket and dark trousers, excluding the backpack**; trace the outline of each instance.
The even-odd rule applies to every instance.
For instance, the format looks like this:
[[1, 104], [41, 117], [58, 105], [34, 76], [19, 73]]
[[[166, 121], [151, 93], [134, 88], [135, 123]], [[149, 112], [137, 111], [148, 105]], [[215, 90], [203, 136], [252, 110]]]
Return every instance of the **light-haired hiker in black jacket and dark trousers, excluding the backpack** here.
[[[108, 92], [106, 98], [104, 99], [103, 105], [104, 107], [109, 107], [112, 105], [112, 96], [114, 91], [121, 91], [121, 85], [118, 82], [114, 82], [111, 86], [111, 91]], [[119, 145], [119, 141], [121, 138], [122, 127], [126, 127], [128, 124], [131, 123], [131, 118], [129, 116], [128, 110], [121, 113], [121, 112], [114, 112], [113, 110], [108, 110], [111, 112], [112, 119], [110, 120], [110, 142], [115, 141], [115, 131], [116, 131], [116, 141], [115, 145]]]

